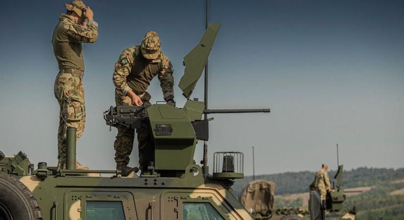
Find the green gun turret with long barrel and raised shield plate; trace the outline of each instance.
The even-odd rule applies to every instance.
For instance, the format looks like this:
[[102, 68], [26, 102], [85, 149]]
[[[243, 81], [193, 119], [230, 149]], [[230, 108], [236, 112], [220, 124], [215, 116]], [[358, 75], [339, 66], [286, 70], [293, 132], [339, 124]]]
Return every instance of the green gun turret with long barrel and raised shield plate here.
[[[186, 172], [192, 172], [187, 169], [190, 165], [195, 164], [193, 156], [198, 140], [209, 140], [209, 121], [212, 119], [202, 119], [202, 114], [270, 112], [269, 109], [209, 110], [205, 108], [205, 102], [199, 101], [197, 98], [190, 99], [192, 91], [202, 75], [219, 27], [219, 23], [209, 24], [200, 42], [184, 57], [185, 72], [178, 85], [187, 98], [183, 108], [154, 104], [146, 109], [147, 117], [141, 114], [145, 108], [138, 106], [111, 107], [104, 112], [104, 119], [110, 126], [123, 125], [139, 129], [141, 120], [147, 120], [150, 124], [154, 149], [149, 153], [151, 155], [145, 156], [150, 158], [150, 165], [148, 171], [143, 171], [143, 176], [182, 177]], [[215, 156], [217, 157], [219, 154], [215, 154]], [[233, 169], [232, 172], [228, 170], [231, 167], [242, 167], [241, 153], [221, 152], [220, 155], [225, 156], [222, 161], [226, 161], [226, 164], [224, 167], [223, 164], [220, 164], [224, 170], [218, 172], [216, 169], [214, 178], [243, 177], [242, 169]], [[235, 155], [239, 160], [235, 160]], [[207, 162], [206, 154], [203, 162]], [[231, 164], [227, 164], [227, 162]], [[235, 162], [238, 163], [236, 167]], [[214, 166], [218, 168], [219, 164], [214, 164]], [[207, 169], [203, 172], [205, 177], [210, 176]]]

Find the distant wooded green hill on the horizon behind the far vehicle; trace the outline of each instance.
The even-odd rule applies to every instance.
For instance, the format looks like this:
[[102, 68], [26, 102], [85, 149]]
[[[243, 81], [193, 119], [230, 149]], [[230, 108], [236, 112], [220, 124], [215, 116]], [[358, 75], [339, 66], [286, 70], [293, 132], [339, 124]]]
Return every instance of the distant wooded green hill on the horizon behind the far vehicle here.
[[[329, 171], [330, 180], [336, 171]], [[281, 174], [259, 175], [256, 179], [271, 180], [276, 183], [275, 195], [304, 193], [309, 191], [309, 185], [314, 179], [315, 172], [287, 172]], [[363, 186], [377, 185], [383, 181], [391, 181], [404, 178], [404, 168], [386, 169], [386, 168], [367, 168], [360, 167], [350, 171], [344, 171], [342, 178], [343, 188], [354, 188]], [[240, 192], [252, 181], [252, 176], [246, 176], [244, 179], [236, 180], [233, 188], [234, 195], [238, 198]]]

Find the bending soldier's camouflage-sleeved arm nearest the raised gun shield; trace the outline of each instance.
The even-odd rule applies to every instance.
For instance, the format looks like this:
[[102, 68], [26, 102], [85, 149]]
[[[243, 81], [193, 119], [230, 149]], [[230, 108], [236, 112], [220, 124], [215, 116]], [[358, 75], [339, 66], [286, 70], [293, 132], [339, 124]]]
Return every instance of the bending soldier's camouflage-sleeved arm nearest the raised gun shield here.
[[173, 67], [171, 65], [171, 61], [163, 54], [162, 60], [162, 68], [159, 72], [159, 81], [161, 89], [163, 90], [163, 97], [164, 100], [167, 102], [169, 100], [174, 100], [174, 76], [173, 74]]

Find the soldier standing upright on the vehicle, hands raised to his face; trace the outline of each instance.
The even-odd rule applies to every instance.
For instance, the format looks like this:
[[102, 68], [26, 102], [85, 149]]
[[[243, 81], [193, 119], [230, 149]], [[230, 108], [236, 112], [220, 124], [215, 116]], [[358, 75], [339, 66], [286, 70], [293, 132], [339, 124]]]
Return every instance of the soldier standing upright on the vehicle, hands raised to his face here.
[[66, 163], [66, 128], [76, 128], [77, 140], [84, 132], [86, 110], [81, 44], [94, 43], [98, 37], [98, 23], [93, 20], [94, 13], [90, 7], [86, 7], [81, 0], [73, 0], [65, 6], [67, 13], [60, 15], [52, 36], [53, 53], [59, 66], [54, 85], [55, 97], [60, 106], [58, 167], [64, 167]]

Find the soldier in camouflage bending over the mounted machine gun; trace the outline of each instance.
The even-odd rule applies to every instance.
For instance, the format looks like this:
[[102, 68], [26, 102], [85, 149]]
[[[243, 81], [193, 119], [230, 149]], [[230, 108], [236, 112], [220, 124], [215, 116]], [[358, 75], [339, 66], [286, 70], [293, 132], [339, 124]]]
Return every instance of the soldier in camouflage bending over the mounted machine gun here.
[[[142, 40], [141, 45], [135, 45], [123, 50], [115, 64], [113, 81], [115, 85], [115, 102], [119, 105], [151, 106], [150, 94], [146, 92], [150, 81], [158, 75], [163, 97], [168, 105], [174, 103], [172, 76], [173, 68], [167, 56], [160, 51], [160, 39], [156, 32], [149, 31]], [[146, 114], [146, 112], [144, 112]], [[147, 168], [147, 162], [154, 160], [152, 150], [154, 143], [147, 122], [142, 122], [141, 129], [137, 131], [139, 142], [139, 165], [142, 172]], [[122, 176], [132, 171], [138, 172], [137, 167], [128, 167], [129, 154], [132, 152], [134, 131], [118, 127], [118, 134], [114, 143], [115, 161], [117, 169]]]

